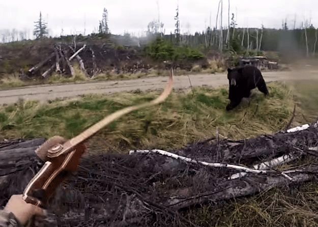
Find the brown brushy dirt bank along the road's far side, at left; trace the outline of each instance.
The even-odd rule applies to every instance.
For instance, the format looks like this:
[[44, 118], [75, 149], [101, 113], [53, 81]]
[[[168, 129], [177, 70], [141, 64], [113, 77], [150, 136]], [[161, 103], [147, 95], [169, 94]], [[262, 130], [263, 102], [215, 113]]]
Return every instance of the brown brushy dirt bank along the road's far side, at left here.
[[[142, 47], [115, 46], [110, 42], [87, 41], [78, 42], [74, 45], [72, 42], [61, 42], [53, 39], [39, 41], [23, 41], [0, 45], [0, 76], [6, 74], [24, 75], [39, 77], [49, 71], [51, 74], [56, 64], [56, 53], [61, 58], [60, 67], [62, 73], [70, 76], [71, 69], [67, 61], [63, 58], [70, 58], [83, 45], [86, 45], [78, 56], [82, 59], [84, 73], [90, 77], [98, 73], [132, 74], [147, 73], [150, 69], [168, 69], [171, 63], [153, 61], [148, 58]], [[73, 48], [73, 49], [72, 49]], [[59, 50], [62, 50], [60, 54]], [[78, 59], [77, 59], [78, 60]], [[44, 61], [44, 62], [43, 62]], [[43, 64], [40, 64], [43, 62]], [[71, 65], [76, 62], [76, 58]], [[39, 68], [31, 70], [32, 67], [40, 64]], [[207, 61], [187, 61], [180, 60], [172, 65], [175, 68], [191, 70], [193, 65], [202, 65], [203, 68], [208, 64]], [[57, 72], [57, 70], [56, 70]], [[44, 74], [45, 75], [45, 74]], [[46, 75], [47, 76], [47, 75]], [[43, 76], [43, 77], [46, 77]]]

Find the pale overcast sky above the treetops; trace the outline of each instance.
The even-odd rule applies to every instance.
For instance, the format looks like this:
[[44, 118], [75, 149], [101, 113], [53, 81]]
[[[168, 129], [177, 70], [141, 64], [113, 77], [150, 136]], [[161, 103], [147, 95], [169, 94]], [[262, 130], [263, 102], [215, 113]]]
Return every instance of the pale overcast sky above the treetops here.
[[[177, 0], [158, 0], [160, 20], [166, 33], [174, 30]], [[181, 32], [203, 31], [211, 23], [215, 26], [218, 0], [179, 0]], [[103, 8], [108, 10], [109, 29], [113, 34], [124, 31], [142, 35], [147, 24], [158, 18], [157, 0], [0, 0], [0, 30], [28, 30], [32, 34], [33, 21], [42, 11], [48, 22], [50, 35], [86, 34], [98, 29]], [[227, 24], [228, 1], [223, 0], [223, 24]], [[318, 26], [317, 0], [230, 0], [230, 12], [237, 13], [239, 26], [281, 27], [287, 18], [289, 27], [311, 18]]]

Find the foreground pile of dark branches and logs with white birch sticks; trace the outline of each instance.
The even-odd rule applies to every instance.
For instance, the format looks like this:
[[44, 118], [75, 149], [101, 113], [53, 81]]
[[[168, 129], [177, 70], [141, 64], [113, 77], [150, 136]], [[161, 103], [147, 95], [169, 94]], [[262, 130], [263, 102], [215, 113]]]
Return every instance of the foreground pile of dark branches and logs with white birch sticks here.
[[[45, 139], [0, 144], [0, 205], [21, 193], [43, 163]], [[196, 226], [196, 205], [315, 181], [318, 125], [238, 141], [209, 139], [170, 152], [83, 157], [50, 204], [57, 226]], [[288, 163], [288, 169], [279, 171]], [[292, 167], [291, 167], [292, 166]]]

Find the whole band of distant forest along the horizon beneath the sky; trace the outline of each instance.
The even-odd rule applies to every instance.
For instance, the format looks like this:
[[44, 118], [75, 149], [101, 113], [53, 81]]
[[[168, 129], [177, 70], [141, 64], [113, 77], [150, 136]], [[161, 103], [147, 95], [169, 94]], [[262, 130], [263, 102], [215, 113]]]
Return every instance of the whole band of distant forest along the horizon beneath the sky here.
[[[222, 0], [219, 3], [218, 15], [222, 9]], [[221, 14], [222, 15], [222, 11]], [[299, 28], [288, 29], [286, 20], [282, 22], [281, 29], [267, 29], [263, 25], [261, 28], [239, 28], [237, 27], [234, 14], [230, 15], [228, 11], [228, 21], [223, 21], [219, 16], [216, 18], [216, 25], [211, 28], [207, 27], [205, 31], [196, 32], [195, 34], [182, 33], [180, 30], [179, 20], [179, 6], [176, 9], [176, 16], [174, 17], [175, 32], [165, 34], [164, 24], [160, 20], [153, 20], [148, 24], [146, 36], [135, 37], [129, 33], [124, 35], [113, 35], [108, 27], [108, 11], [103, 9], [101, 20], [99, 21], [98, 29], [92, 34], [85, 36], [77, 34], [78, 37], [86, 37], [88, 39], [93, 37], [109, 37], [111, 41], [118, 45], [129, 46], [143, 46], [154, 41], [156, 38], [161, 37], [163, 40], [168, 41], [174, 45], [189, 46], [199, 49], [211, 49], [219, 52], [232, 51], [234, 53], [241, 53], [252, 51], [257, 54], [259, 51], [278, 51], [281, 53], [293, 53], [305, 56], [316, 55], [317, 32], [316, 29], [308, 20], [306, 20]], [[218, 22], [220, 24], [218, 25]], [[43, 20], [42, 14], [38, 21], [34, 22], [33, 37], [36, 39], [49, 38], [48, 25]], [[222, 29], [218, 28], [221, 27]], [[63, 34], [63, 29], [60, 37], [57, 39], [68, 40], [70, 36]], [[74, 37], [72, 35], [71, 37]], [[51, 38], [51, 37], [50, 37]], [[16, 42], [22, 40], [29, 40], [30, 34], [26, 31], [13, 30], [0, 30], [0, 42]]]

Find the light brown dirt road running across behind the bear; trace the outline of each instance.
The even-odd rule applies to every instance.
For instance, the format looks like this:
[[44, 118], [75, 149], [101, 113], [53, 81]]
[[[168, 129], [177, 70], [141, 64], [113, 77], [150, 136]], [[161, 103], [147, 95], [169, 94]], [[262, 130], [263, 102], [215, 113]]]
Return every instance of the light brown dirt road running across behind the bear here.
[[[265, 81], [288, 81], [318, 79], [318, 70], [263, 72]], [[228, 83], [226, 73], [197, 74], [188, 76], [175, 76], [174, 88], [186, 89], [190, 87], [189, 78], [193, 87], [218, 87]], [[151, 77], [134, 80], [90, 82], [77, 84], [43, 85], [24, 87], [19, 89], [1, 90], [0, 105], [11, 104], [24, 100], [48, 101], [56, 98], [71, 98], [85, 94], [111, 94], [116, 92], [129, 92], [162, 89], [167, 83], [167, 77]]]

